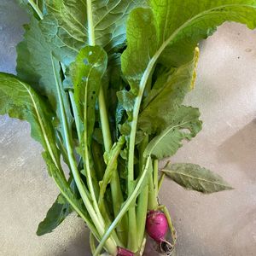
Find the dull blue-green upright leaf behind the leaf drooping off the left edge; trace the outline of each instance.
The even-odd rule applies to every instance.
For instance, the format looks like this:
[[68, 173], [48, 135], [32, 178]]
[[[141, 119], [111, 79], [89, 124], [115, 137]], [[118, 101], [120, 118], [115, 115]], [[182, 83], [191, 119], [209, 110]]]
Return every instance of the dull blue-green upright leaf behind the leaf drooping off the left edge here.
[[25, 27], [24, 40], [17, 46], [17, 75], [26, 83], [31, 84], [41, 95], [48, 97], [51, 108], [57, 116], [55, 124], [59, 126], [61, 136], [65, 137], [60, 122], [61, 102], [65, 106], [69, 126], [72, 117], [66, 92], [61, 84], [60, 64], [40, 32], [38, 20], [32, 16], [30, 24]]

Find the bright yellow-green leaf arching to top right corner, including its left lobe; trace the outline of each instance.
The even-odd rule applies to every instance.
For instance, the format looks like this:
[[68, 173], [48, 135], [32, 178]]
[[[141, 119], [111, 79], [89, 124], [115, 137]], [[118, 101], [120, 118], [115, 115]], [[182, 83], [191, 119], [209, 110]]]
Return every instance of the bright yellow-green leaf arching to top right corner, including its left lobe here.
[[[196, 44], [224, 21], [256, 26], [255, 0], [152, 0], [149, 5], [151, 9], [133, 10], [127, 22], [122, 70], [135, 94], [139, 87], [144, 90], [160, 57], [168, 67], [178, 62], [174, 56], [180, 53], [191, 60]], [[168, 57], [165, 50], [170, 47], [176, 53], [168, 52]]]

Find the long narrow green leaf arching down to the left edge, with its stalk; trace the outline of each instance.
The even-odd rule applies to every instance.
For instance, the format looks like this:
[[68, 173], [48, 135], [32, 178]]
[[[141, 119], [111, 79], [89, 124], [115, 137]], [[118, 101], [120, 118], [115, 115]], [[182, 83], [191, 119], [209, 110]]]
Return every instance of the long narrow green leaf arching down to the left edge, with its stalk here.
[[60, 154], [55, 146], [55, 132], [51, 119], [54, 117], [47, 102], [38, 96], [29, 84], [22, 82], [14, 75], [0, 73], [0, 114], [8, 113], [10, 117], [26, 120], [30, 123], [32, 137], [41, 143], [45, 152], [43, 157], [49, 174], [55, 180], [61, 194], [70, 205], [84, 218], [86, 223], [97, 232], [84, 209], [70, 189], [64, 172], [61, 169]]

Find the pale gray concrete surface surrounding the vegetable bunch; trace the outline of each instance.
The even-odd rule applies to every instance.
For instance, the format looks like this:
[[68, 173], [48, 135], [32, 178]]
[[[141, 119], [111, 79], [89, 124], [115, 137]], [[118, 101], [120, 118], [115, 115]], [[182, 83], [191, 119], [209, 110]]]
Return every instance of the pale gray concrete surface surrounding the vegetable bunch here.
[[[15, 45], [26, 15], [0, 0], [0, 71], [15, 72]], [[178, 231], [178, 256], [256, 255], [256, 32], [225, 24], [201, 44], [195, 90], [186, 102], [201, 108], [203, 131], [172, 161], [207, 166], [235, 190], [214, 195], [166, 181], [161, 201]], [[29, 125], [0, 117], [0, 255], [82, 256], [88, 234], [75, 215], [47, 236], [35, 235], [58, 191]]]

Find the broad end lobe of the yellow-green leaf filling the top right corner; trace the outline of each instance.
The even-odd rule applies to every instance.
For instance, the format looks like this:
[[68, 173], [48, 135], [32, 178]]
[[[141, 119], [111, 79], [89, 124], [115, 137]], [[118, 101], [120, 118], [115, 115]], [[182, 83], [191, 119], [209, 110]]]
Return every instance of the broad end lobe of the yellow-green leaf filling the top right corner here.
[[[253, 29], [256, 26], [256, 1], [192, 0], [151, 1], [159, 27], [158, 39], [164, 42], [174, 35], [160, 55], [167, 67], [178, 67], [193, 58], [193, 50], [201, 39], [216, 32], [224, 21], [236, 21]], [[168, 10], [168, 11], [166, 11]]]

